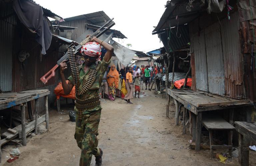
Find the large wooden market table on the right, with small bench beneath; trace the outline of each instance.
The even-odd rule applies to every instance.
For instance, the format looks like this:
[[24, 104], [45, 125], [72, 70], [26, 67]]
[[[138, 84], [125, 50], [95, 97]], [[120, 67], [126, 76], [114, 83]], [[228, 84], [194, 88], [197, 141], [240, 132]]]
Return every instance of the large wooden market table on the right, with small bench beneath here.
[[[248, 100], [236, 100], [225, 98], [206, 92], [195, 92], [192, 90], [168, 89], [168, 101], [166, 115], [169, 115], [170, 98], [173, 97], [176, 106], [175, 125], [179, 123], [179, 103], [191, 112], [192, 140], [195, 141], [195, 151], [200, 151], [201, 122], [204, 111], [222, 110], [237, 107], [252, 106]], [[234, 112], [230, 111], [230, 121], [233, 125]], [[195, 123], [196, 122], [196, 123]]]

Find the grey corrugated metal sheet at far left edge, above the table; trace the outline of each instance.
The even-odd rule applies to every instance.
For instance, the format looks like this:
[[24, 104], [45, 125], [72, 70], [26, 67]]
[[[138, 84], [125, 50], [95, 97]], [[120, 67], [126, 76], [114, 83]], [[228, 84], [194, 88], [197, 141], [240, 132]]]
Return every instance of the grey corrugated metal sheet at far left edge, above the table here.
[[12, 91], [13, 25], [0, 20], [0, 89]]

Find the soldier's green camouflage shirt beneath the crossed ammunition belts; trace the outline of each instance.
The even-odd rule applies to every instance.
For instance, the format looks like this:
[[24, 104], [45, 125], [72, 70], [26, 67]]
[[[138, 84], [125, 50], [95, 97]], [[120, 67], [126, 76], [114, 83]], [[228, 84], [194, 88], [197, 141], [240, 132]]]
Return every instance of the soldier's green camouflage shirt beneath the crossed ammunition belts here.
[[[102, 61], [99, 61], [99, 68], [98, 68], [97, 74], [95, 76], [95, 80], [94, 80], [92, 86], [90, 87], [90, 89], [86, 92], [86, 94], [80, 96], [81, 99], [90, 99], [91, 97], [99, 94], [100, 83], [102, 81], [103, 75], [106, 72], [106, 69], [107, 69], [108, 65], [110, 64], [110, 62], [111, 62], [111, 59], [109, 60], [109, 62], [105, 62], [104, 58]], [[90, 66], [90, 68], [87, 70], [87, 72], [85, 73], [83, 70], [84, 66], [85, 65], [79, 66], [79, 71], [80, 71], [80, 73], [79, 73], [79, 77], [80, 77], [79, 90], [82, 89], [84, 82], [88, 79], [90, 70], [96, 68], [96, 64], [92, 64]], [[72, 76], [68, 77], [68, 80], [74, 85]], [[93, 109], [84, 110], [83, 114], [88, 114], [92, 111], [98, 111], [101, 109], [102, 109], [102, 107], [99, 105], [99, 106], [94, 107]], [[77, 111], [76, 107], [75, 107], [75, 111]]]

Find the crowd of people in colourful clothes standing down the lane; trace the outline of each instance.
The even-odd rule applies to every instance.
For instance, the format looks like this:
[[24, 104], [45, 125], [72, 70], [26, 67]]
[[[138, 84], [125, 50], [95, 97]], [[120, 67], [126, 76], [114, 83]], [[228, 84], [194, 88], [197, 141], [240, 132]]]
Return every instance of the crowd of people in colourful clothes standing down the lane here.
[[[150, 84], [154, 80], [157, 73], [165, 73], [165, 66], [150, 66], [141, 65], [124, 67], [118, 71], [115, 65], [109, 66], [103, 76], [104, 94], [109, 100], [113, 101], [116, 97], [127, 101], [128, 104], [133, 104], [130, 99], [133, 98], [133, 90], [135, 91], [134, 98], [140, 98], [140, 91], [150, 90]], [[137, 94], [138, 92], [138, 94]]]

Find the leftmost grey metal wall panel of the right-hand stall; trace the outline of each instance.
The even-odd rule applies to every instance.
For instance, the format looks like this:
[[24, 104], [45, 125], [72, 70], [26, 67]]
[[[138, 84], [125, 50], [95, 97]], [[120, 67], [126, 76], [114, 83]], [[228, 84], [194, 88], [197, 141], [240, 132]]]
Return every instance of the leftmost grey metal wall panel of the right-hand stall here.
[[194, 52], [196, 89], [208, 92], [207, 59], [204, 31], [191, 37], [191, 50]]

